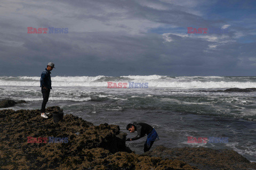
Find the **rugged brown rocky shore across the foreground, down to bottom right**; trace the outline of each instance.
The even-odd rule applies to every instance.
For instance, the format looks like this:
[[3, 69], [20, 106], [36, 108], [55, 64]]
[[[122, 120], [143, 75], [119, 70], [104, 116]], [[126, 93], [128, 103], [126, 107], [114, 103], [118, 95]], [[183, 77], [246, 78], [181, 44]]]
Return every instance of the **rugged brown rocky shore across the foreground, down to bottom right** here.
[[94, 126], [71, 114], [53, 123], [39, 110], [4, 109], [0, 124], [0, 169], [256, 169], [233, 150], [159, 146], [138, 155], [118, 125]]

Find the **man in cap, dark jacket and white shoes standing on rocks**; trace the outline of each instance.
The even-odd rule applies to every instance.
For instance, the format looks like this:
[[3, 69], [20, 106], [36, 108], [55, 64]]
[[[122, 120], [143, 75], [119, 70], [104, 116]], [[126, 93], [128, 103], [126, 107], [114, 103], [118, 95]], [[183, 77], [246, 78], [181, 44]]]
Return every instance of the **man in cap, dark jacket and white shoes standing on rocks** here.
[[[55, 68], [53, 63], [48, 63], [47, 68], [42, 72], [40, 79], [40, 87], [43, 94], [43, 103], [41, 108], [41, 116], [44, 118], [48, 118], [49, 113], [45, 113], [45, 106], [49, 99], [50, 89], [52, 89], [52, 81], [51, 81], [51, 72], [52, 69]], [[46, 115], [47, 114], [47, 115]]]

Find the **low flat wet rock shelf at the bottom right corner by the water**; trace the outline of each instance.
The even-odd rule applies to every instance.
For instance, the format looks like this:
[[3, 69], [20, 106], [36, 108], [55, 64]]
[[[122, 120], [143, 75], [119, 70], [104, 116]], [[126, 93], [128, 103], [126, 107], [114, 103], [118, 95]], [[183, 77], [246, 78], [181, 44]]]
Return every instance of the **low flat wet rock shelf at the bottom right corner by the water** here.
[[171, 160], [178, 159], [199, 169], [256, 169], [255, 163], [251, 163], [234, 150], [228, 149], [215, 150], [203, 147], [166, 148], [159, 146], [143, 155], [154, 157], [161, 156]]

